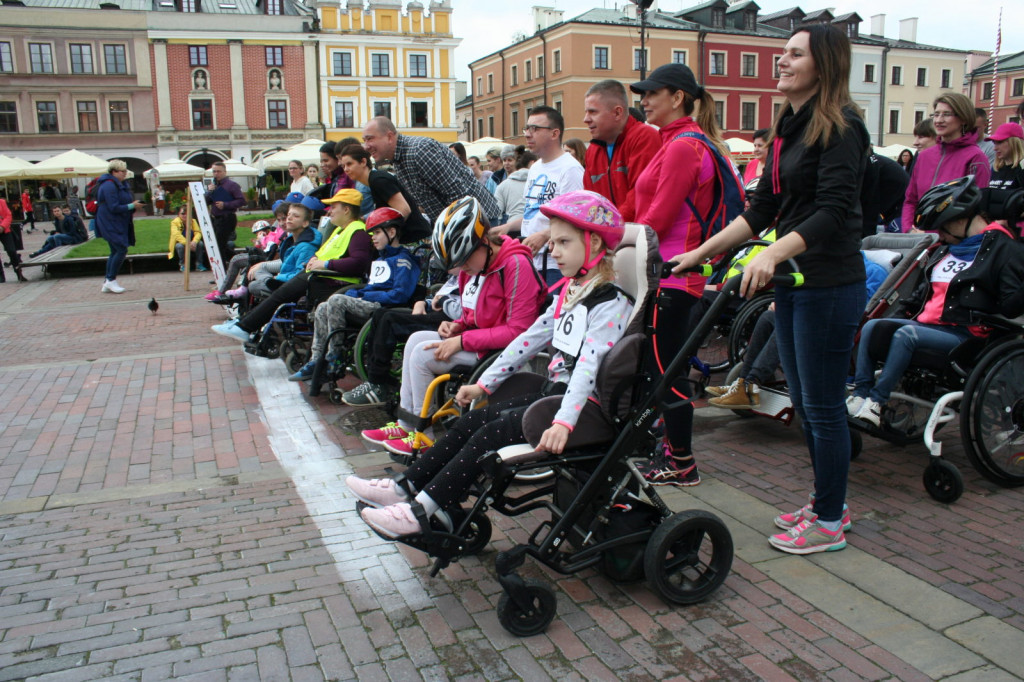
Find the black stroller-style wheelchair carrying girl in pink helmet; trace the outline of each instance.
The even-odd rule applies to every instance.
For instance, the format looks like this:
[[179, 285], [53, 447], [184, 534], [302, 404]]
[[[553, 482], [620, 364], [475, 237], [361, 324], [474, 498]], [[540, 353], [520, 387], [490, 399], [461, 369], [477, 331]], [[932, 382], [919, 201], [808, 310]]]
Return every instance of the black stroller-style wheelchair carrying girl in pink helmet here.
[[[651, 244], [655, 245], [653, 251], [649, 250]], [[641, 253], [646, 258], [639, 268], [634, 268], [631, 282], [624, 276], [620, 263], [635, 260]], [[725, 523], [702, 510], [674, 513], [631, 458], [646, 458], [653, 450], [657, 440], [655, 421], [660, 412], [675, 407], [667, 404], [674, 399], [673, 383], [688, 371], [690, 356], [736, 298], [739, 280], [723, 287], [664, 375], [652, 378], [643, 371], [653, 333], [648, 312], [653, 306], [645, 303], [656, 295], [651, 292], [658, 278], [670, 269], [665, 268], [663, 275], [656, 254], [656, 237], [650, 228], [627, 226], [627, 236], [615, 255], [615, 269], [620, 286], [634, 295], [638, 304], [627, 336], [605, 356], [597, 378], [604, 406], [601, 410], [617, 433], [614, 439], [606, 445], [561, 455], [536, 452], [529, 444], [487, 453], [480, 460], [482, 482], [467, 494], [467, 499], [475, 497], [475, 502], [468, 509], [445, 510], [451, 528], [436, 517], [422, 518], [427, 531], [398, 539], [434, 557], [431, 574], [436, 574], [453, 560], [486, 545], [492, 532], [488, 510], [507, 516], [548, 512], [550, 519], [542, 521], [525, 543], [500, 553], [496, 560], [498, 580], [504, 589], [498, 617], [514, 635], [544, 632], [556, 611], [555, 593], [550, 587], [518, 574], [526, 557], [562, 574], [595, 567], [616, 582], [646, 578], [650, 587], [672, 604], [706, 599], [722, 585], [731, 568], [733, 543]], [[700, 271], [705, 272], [703, 266]], [[527, 415], [532, 410], [550, 409], [545, 404], [546, 400], [534, 403]], [[550, 419], [546, 423], [550, 424]], [[527, 433], [527, 437], [536, 442], [531, 434]], [[518, 476], [548, 468], [555, 472], [551, 480], [518, 495], [508, 494]]]

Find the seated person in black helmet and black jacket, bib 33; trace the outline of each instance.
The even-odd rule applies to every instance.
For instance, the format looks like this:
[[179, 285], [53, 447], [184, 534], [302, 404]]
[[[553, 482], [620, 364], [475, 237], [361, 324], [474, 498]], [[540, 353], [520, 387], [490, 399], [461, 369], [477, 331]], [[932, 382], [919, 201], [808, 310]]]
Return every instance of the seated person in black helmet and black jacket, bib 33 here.
[[[853, 394], [847, 412], [876, 427], [883, 406], [910, 366], [914, 351], [949, 353], [989, 330], [972, 313], [1015, 317], [1024, 313], [1024, 245], [997, 222], [981, 213], [982, 190], [974, 176], [933, 187], [918, 203], [915, 224], [938, 230], [945, 248], [936, 251], [928, 266], [927, 290], [921, 311], [910, 319], [871, 319], [860, 333]], [[895, 329], [895, 331], [893, 331]], [[877, 334], [892, 334], [885, 366], [874, 377], [871, 348]]]

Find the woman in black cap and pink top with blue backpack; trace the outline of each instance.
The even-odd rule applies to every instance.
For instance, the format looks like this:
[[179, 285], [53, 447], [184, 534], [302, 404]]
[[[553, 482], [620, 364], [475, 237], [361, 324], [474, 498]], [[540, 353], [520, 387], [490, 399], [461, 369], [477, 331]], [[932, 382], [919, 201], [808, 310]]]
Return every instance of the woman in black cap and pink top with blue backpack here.
[[[701, 229], [694, 209], [707, 216], [715, 199], [717, 172], [712, 150], [686, 133], [706, 136], [726, 158], [728, 148], [715, 122], [715, 100], [697, 85], [687, 67], [658, 67], [647, 80], [634, 83], [630, 89], [643, 95], [641, 103], [647, 122], [657, 126], [662, 135], [662, 148], [637, 179], [637, 222], [657, 232], [662, 257], [669, 260], [700, 246]], [[655, 311], [653, 371], [660, 373], [668, 367], [689, 336], [690, 310], [700, 300], [705, 280], [691, 274], [663, 283], [662, 294], [669, 305], [658, 305]], [[677, 396], [690, 395], [689, 382], [680, 380], [675, 391]], [[693, 406], [668, 411], [664, 417], [665, 441], [640, 469], [655, 485], [696, 485], [700, 476], [690, 442]]]

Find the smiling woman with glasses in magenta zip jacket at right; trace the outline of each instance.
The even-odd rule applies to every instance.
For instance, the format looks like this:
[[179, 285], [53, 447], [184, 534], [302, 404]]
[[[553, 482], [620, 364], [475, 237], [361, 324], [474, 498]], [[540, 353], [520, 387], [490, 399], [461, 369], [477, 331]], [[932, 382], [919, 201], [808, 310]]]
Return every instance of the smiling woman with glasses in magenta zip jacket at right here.
[[946, 92], [932, 102], [932, 123], [938, 143], [918, 155], [903, 200], [901, 225], [904, 232], [914, 227], [913, 211], [918, 200], [932, 187], [974, 175], [979, 187], [987, 187], [992, 175], [988, 157], [978, 146], [978, 124], [974, 103], [958, 92]]

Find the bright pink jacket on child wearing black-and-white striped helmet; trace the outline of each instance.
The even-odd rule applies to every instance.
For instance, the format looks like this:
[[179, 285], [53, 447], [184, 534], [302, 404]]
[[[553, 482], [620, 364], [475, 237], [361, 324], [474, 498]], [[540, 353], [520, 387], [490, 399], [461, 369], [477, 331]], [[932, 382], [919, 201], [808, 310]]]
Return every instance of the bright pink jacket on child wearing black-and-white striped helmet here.
[[[477, 275], [459, 272], [459, 291], [466, 291]], [[463, 350], [479, 355], [504, 348], [529, 329], [547, 298], [534, 269], [534, 254], [516, 240], [502, 238], [501, 250], [492, 258], [475, 308], [462, 309], [457, 330]]]

